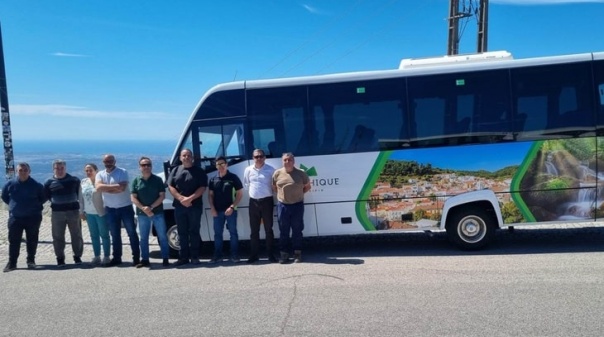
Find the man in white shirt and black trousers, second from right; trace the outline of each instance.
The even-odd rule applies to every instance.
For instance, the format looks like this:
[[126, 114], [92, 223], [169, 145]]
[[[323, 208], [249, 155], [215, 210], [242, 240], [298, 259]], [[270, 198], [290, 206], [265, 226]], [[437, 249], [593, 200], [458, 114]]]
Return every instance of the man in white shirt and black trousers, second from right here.
[[250, 216], [250, 245], [251, 254], [247, 263], [258, 261], [258, 252], [260, 250], [260, 224], [264, 223], [264, 232], [266, 234], [266, 251], [270, 262], [277, 262], [273, 255], [273, 242], [275, 234], [273, 233], [273, 200], [272, 177], [275, 168], [266, 164], [266, 155], [261, 149], [253, 152], [254, 164], [246, 167], [243, 173], [243, 186], [248, 190], [250, 197], [249, 216]]

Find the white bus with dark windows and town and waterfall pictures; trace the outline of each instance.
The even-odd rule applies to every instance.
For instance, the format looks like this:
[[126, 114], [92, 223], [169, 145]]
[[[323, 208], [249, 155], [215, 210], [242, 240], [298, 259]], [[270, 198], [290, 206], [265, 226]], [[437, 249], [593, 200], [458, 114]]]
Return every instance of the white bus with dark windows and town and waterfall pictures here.
[[604, 52], [469, 59], [215, 86], [164, 166], [189, 148], [208, 176], [219, 155], [242, 176], [255, 148], [275, 168], [292, 152], [312, 183], [306, 237], [446, 230], [478, 249], [502, 227], [601, 219]]

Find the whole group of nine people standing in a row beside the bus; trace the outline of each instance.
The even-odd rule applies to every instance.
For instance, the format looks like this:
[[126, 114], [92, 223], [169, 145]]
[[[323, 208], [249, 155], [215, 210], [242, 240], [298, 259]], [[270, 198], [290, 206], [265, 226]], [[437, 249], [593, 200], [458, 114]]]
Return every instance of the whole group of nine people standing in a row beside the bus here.
[[[230, 260], [235, 263], [240, 261], [237, 213], [244, 187], [249, 192], [251, 229], [251, 254], [247, 262], [259, 260], [262, 224], [266, 233], [269, 261], [287, 263], [293, 254], [294, 262], [301, 262], [303, 201], [304, 193], [310, 190], [310, 180], [303, 170], [294, 166], [292, 153], [283, 154], [283, 167], [279, 169], [266, 164], [265, 159], [263, 150], [254, 150], [254, 164], [245, 169], [241, 181], [237, 175], [229, 172], [226, 159], [217, 157], [217, 175], [208, 180], [205, 171], [194, 165], [192, 151], [184, 149], [180, 152], [181, 165], [169, 173], [165, 185], [159, 176], [152, 173], [151, 159], [144, 156], [138, 162], [140, 175], [132, 182], [128, 179], [128, 172], [116, 166], [115, 156], [111, 154], [103, 156], [104, 170], [99, 171], [93, 163], [86, 164], [86, 178], [82, 180], [67, 173], [65, 161], [55, 160], [52, 163], [53, 176], [44, 184], [30, 177], [31, 169], [27, 163], [19, 163], [17, 177], [7, 182], [2, 189], [2, 200], [9, 205], [9, 260], [4, 272], [17, 268], [23, 232], [26, 237], [27, 268], [37, 268], [35, 256], [43, 205], [47, 201], [50, 201], [52, 211], [51, 232], [59, 267], [66, 264], [66, 229], [69, 229], [71, 236], [73, 261], [75, 264], [82, 263], [82, 220], [86, 221], [90, 232], [94, 252], [92, 264], [108, 267], [122, 264], [123, 226], [129, 237], [133, 265], [137, 268], [150, 267], [149, 235], [151, 226], [154, 226], [162, 266], [170, 266], [170, 248], [163, 210], [166, 186], [174, 199], [174, 217], [180, 239], [179, 259], [174, 265], [200, 263], [202, 196], [206, 189], [214, 228], [214, 254], [210, 263], [223, 260], [225, 225], [230, 235]], [[274, 192], [277, 194], [280, 230], [279, 259], [273, 255]], [[135, 209], [140, 237], [136, 231]]]

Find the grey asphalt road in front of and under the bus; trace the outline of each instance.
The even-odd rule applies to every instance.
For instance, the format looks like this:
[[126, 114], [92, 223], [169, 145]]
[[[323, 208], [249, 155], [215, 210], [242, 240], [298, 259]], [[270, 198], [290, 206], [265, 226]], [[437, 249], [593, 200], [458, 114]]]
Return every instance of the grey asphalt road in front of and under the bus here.
[[480, 252], [458, 251], [442, 233], [309, 240], [306, 247], [301, 264], [213, 266], [206, 256], [181, 269], [152, 259], [150, 270], [59, 270], [48, 255], [39, 270], [0, 274], [0, 336], [604, 331], [604, 227], [501, 231]]

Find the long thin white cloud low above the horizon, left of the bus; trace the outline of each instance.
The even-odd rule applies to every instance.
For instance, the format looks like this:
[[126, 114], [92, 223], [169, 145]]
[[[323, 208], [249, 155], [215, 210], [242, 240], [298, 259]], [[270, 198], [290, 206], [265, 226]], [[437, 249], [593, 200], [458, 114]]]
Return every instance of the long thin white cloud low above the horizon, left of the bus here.
[[14, 104], [10, 106], [12, 114], [21, 116], [51, 116], [70, 118], [102, 118], [102, 119], [180, 119], [180, 116], [165, 112], [133, 112], [133, 111], [100, 111], [86, 107], [60, 104]]

